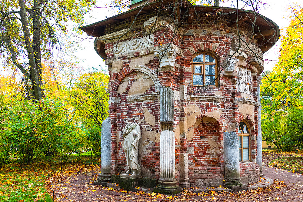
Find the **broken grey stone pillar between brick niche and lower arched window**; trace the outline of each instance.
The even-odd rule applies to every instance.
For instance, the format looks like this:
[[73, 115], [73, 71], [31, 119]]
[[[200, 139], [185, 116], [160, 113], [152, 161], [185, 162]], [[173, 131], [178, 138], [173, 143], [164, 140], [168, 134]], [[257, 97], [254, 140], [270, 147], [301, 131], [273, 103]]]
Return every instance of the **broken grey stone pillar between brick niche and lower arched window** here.
[[224, 161], [226, 184], [241, 184], [239, 144], [236, 132], [224, 132]]

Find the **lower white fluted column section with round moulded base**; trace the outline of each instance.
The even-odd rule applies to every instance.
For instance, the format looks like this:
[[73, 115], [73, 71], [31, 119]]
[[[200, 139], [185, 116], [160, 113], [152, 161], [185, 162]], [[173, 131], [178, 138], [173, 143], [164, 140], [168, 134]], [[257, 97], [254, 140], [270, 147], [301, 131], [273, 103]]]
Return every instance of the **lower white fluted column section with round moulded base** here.
[[165, 130], [160, 134], [160, 178], [154, 192], [175, 194], [181, 191], [175, 178], [175, 133]]

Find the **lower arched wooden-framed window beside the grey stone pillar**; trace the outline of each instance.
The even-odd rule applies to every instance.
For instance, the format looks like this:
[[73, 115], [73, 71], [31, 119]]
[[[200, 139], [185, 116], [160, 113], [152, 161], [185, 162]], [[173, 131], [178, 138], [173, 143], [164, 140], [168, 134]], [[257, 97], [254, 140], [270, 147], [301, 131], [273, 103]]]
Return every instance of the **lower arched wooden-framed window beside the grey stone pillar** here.
[[244, 121], [240, 122], [239, 131], [239, 159], [240, 161], [250, 160], [250, 131], [248, 124]]

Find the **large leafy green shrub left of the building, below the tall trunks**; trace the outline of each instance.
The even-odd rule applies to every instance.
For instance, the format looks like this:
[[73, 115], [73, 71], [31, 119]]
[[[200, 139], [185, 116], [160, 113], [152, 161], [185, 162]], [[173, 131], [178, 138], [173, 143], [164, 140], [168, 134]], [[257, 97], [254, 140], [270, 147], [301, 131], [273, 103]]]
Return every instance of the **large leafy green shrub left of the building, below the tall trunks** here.
[[[49, 151], [64, 155], [79, 147], [77, 127], [68, 121], [60, 100], [0, 99], [0, 161], [21, 168]], [[65, 157], [66, 159], [66, 157]]]

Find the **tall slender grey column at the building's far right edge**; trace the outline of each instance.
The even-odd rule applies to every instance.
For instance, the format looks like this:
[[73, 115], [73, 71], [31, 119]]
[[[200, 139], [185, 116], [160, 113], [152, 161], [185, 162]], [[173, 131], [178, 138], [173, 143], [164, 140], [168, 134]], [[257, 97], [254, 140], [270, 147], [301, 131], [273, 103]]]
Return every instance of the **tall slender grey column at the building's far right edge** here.
[[262, 77], [257, 78], [257, 96], [258, 96], [258, 137], [257, 137], [257, 164], [260, 165], [260, 175], [262, 174], [262, 127], [261, 127], [261, 94], [260, 94], [260, 85]]

